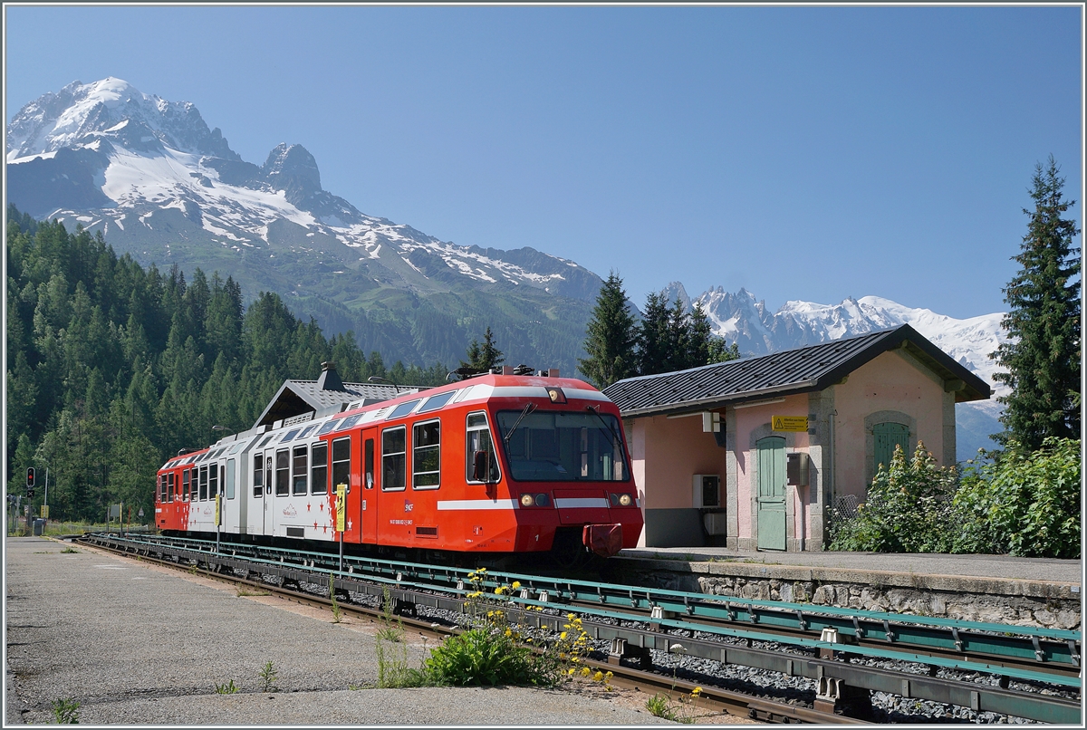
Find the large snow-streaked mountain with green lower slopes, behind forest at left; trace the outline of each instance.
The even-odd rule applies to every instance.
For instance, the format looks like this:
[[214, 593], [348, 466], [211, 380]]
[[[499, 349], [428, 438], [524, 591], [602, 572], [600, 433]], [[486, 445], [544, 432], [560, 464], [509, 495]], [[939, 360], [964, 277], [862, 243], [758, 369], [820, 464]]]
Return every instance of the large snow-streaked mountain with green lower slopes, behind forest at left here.
[[322, 189], [301, 144], [243, 161], [193, 104], [117, 78], [24, 106], [8, 125], [5, 160], [21, 212], [101, 231], [143, 264], [218, 269], [249, 297], [297, 298], [292, 309], [329, 333], [353, 329], [363, 347], [409, 362], [457, 362], [461, 340], [486, 325], [509, 341], [536, 323], [557, 331], [511, 357], [572, 370], [584, 331], [557, 305], [587, 319], [600, 287], [592, 272], [530, 248], [458, 246], [364, 214]]

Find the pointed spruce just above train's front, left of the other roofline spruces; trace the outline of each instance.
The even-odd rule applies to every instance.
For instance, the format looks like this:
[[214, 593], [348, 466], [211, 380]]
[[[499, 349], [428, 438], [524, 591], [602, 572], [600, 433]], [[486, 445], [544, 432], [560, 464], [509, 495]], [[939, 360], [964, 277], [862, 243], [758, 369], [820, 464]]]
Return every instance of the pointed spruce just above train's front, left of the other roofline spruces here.
[[592, 319], [585, 330], [585, 360], [578, 358], [578, 369], [598, 388], [630, 377], [636, 373], [636, 328], [626, 303], [623, 279], [611, 272], [592, 310]]

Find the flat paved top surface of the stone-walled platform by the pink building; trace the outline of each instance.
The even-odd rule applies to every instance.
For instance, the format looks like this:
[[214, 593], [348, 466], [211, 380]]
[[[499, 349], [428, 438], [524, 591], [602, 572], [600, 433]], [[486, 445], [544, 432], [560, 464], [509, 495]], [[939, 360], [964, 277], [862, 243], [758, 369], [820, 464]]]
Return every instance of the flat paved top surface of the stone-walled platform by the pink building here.
[[[733, 561], [808, 568], [885, 570], [919, 576], [960, 576], [1010, 580], [1083, 583], [1083, 561], [1057, 561], [1007, 555], [919, 555], [899, 553], [778, 553], [739, 551], [727, 548], [637, 548], [620, 553], [623, 557], [665, 559]], [[688, 558], [687, 556], [690, 556]]]

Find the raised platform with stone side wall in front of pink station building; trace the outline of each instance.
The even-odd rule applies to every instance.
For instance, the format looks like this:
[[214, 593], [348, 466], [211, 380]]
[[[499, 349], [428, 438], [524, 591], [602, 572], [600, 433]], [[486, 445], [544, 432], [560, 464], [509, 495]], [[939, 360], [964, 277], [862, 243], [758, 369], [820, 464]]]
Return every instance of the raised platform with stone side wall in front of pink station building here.
[[1083, 561], [919, 553], [635, 548], [609, 564], [616, 582], [738, 599], [1079, 629]]

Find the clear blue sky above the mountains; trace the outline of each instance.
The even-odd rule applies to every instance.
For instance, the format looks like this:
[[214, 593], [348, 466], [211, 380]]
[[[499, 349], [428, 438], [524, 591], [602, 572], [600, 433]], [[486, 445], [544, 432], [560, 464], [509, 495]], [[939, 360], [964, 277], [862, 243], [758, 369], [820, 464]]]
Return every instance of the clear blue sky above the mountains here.
[[123, 78], [250, 162], [303, 144], [364, 213], [615, 269], [638, 304], [679, 280], [976, 316], [1035, 163], [1083, 221], [1077, 7], [4, 12], [7, 121]]

